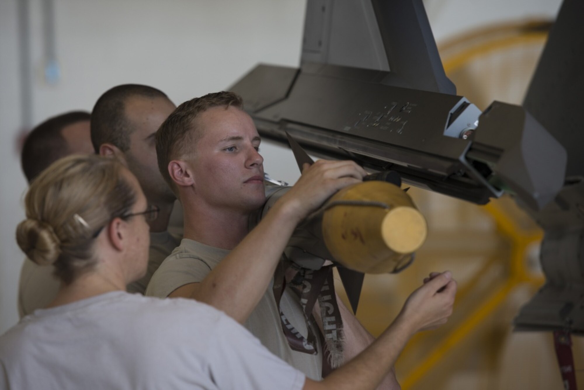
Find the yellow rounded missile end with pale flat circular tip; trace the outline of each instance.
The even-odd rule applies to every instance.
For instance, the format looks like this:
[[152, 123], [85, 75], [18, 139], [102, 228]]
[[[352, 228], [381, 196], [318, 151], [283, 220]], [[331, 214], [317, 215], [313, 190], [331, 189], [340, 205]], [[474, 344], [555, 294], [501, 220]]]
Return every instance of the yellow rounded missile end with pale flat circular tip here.
[[426, 220], [394, 184], [375, 180], [354, 184], [328, 203], [322, 236], [335, 260], [349, 269], [398, 272], [426, 240]]

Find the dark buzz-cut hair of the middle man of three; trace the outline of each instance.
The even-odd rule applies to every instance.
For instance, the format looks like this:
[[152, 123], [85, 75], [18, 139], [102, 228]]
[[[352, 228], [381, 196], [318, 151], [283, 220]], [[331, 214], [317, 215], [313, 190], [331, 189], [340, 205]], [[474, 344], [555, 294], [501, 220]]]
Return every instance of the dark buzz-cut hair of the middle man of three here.
[[102, 144], [112, 144], [122, 152], [130, 149], [130, 134], [135, 130], [124, 112], [130, 97], [154, 99], [168, 96], [159, 89], [140, 84], [114, 86], [99, 97], [91, 113], [91, 143], [96, 153]]

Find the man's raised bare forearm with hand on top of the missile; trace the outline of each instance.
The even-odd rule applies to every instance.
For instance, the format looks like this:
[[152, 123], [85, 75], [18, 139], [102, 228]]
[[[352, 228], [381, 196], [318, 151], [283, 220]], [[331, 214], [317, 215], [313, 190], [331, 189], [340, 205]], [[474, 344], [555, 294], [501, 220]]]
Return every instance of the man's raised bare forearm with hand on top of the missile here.
[[304, 165], [298, 182], [266, 217], [193, 290], [193, 298], [244, 322], [272, 279], [297, 223], [333, 193], [361, 182], [367, 172], [352, 161], [317, 161]]

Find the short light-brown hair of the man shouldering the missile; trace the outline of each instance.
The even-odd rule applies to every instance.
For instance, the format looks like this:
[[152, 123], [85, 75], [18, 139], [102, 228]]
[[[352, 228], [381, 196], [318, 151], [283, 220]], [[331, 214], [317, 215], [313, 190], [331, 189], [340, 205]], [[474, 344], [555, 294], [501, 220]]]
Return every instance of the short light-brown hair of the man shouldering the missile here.
[[162, 177], [178, 196], [176, 184], [168, 173], [168, 164], [173, 159], [189, 153], [189, 149], [200, 138], [195, 119], [199, 114], [211, 107], [237, 107], [243, 109], [241, 96], [234, 92], [214, 92], [205, 96], [187, 100], [161, 124], [156, 133], [156, 154], [158, 156], [158, 169]]

